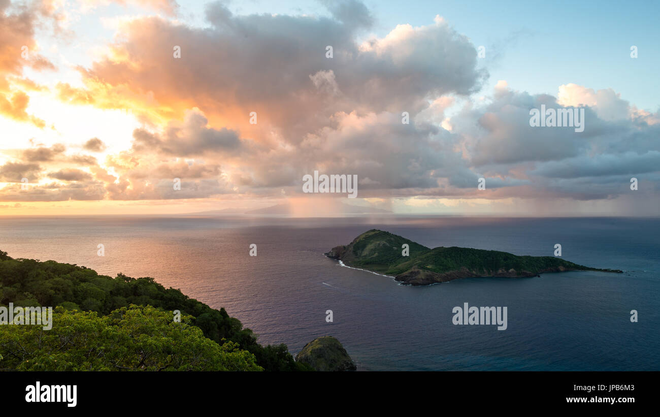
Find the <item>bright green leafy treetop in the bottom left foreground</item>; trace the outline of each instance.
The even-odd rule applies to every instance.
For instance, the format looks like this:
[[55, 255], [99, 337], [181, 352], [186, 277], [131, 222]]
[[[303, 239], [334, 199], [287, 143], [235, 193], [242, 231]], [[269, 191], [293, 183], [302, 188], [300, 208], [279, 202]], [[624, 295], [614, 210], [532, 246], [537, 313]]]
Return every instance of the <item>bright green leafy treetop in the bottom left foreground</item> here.
[[131, 305], [99, 317], [56, 307], [53, 328], [0, 326], [2, 369], [24, 371], [260, 371], [238, 344], [220, 346], [172, 314]]

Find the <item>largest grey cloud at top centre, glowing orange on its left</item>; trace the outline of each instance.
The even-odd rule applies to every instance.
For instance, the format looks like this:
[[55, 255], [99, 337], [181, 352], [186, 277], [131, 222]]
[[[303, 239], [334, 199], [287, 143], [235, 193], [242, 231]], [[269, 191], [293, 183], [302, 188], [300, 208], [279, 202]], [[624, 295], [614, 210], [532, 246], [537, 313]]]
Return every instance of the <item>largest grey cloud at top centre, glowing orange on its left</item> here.
[[[400, 25], [362, 43], [358, 28], [340, 19], [343, 10], [364, 6], [330, 7], [333, 18], [242, 16], [213, 3], [207, 28], [154, 16], [127, 20], [105, 57], [79, 67], [84, 88], [62, 83], [59, 95], [99, 108], [131, 108], [159, 125], [197, 107], [212, 126], [275, 146], [276, 140], [300, 143], [337, 112], [412, 114], [443, 94], [471, 94], [487, 77], [476, 68], [473, 44], [442, 19]], [[181, 48], [179, 59], [174, 46]], [[331, 59], [326, 46], [333, 47]], [[328, 91], [342, 94], [321, 100]], [[249, 124], [251, 112], [257, 125]]]

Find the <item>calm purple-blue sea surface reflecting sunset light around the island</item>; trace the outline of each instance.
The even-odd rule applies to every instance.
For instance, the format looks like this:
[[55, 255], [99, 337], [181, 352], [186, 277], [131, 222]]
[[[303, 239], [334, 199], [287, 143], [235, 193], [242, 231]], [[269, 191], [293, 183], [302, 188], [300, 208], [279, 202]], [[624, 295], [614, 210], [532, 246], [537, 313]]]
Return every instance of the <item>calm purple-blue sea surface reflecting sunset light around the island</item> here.
[[[411, 287], [323, 256], [371, 228], [428, 247], [517, 255], [552, 256], [560, 243], [568, 261], [625, 273]], [[293, 354], [333, 335], [359, 369], [657, 371], [659, 232], [657, 218], [3, 217], [0, 249], [110, 276], [152, 276], [225, 307], [261, 343], [286, 343]], [[453, 307], [465, 302], [508, 307], [508, 329], [453, 325]], [[638, 323], [630, 322], [632, 309]]]

